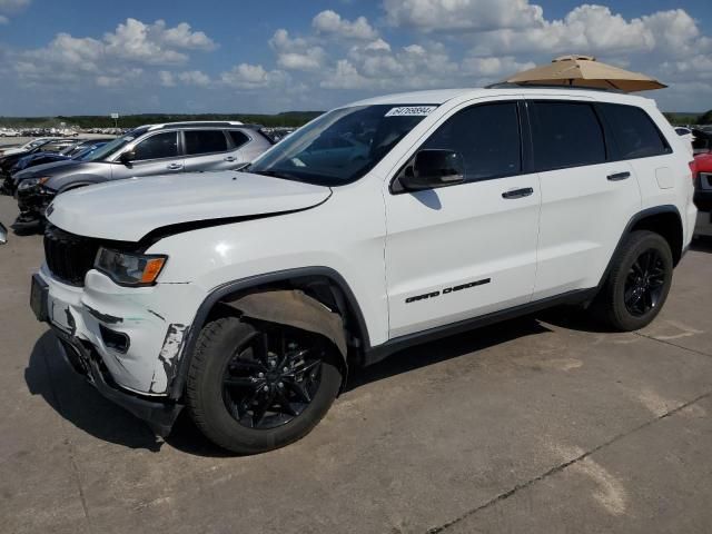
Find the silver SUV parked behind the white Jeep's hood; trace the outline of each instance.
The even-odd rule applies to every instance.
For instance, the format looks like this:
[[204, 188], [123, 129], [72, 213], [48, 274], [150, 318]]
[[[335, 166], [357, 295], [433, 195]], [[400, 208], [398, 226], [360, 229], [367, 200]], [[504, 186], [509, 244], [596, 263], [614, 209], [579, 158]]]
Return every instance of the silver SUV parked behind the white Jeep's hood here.
[[53, 198], [79, 187], [125, 178], [243, 167], [273, 145], [259, 126], [241, 122], [172, 122], [141, 126], [88, 160], [41, 165], [13, 178], [20, 215], [14, 229], [42, 221]]

